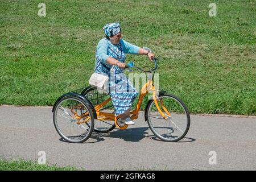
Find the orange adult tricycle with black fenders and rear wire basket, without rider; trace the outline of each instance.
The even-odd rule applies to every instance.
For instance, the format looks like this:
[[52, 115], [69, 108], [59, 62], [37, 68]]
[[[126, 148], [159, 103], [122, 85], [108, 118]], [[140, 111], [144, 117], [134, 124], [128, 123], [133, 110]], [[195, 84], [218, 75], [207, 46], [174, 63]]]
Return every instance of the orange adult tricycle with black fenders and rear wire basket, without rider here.
[[[158, 68], [157, 59], [152, 58], [155, 67], [145, 71], [129, 63], [129, 71], [147, 73], [147, 82], [142, 86], [137, 105], [130, 111], [130, 117], [138, 118], [143, 98], [150, 94], [144, 109], [144, 121], [152, 133], [166, 142], [177, 142], [184, 138], [190, 126], [189, 111], [183, 101], [173, 94], [155, 90], [153, 78]], [[108, 133], [117, 127], [128, 127], [119, 116], [114, 115], [114, 107], [109, 94], [87, 86], [59, 97], [53, 108], [53, 123], [57, 133], [67, 142], [82, 143], [93, 131]]]

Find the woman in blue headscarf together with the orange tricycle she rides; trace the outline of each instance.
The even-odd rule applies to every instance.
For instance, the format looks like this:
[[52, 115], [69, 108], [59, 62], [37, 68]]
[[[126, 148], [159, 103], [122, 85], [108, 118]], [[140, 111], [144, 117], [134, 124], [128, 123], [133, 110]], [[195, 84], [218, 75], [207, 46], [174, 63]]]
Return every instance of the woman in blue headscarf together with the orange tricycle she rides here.
[[[90, 86], [64, 94], [53, 106], [53, 123], [61, 138], [81, 143], [93, 131], [106, 133], [115, 127], [123, 130], [134, 125], [143, 98], [151, 92], [144, 111], [144, 119], [151, 131], [164, 141], [177, 142], [182, 139], [189, 129], [189, 111], [176, 96], [155, 90], [152, 79], [158, 67], [155, 55], [146, 47], [140, 48], [121, 39], [119, 23], [106, 24], [103, 29], [106, 38], [100, 40], [96, 50], [93, 76], [97, 79], [92, 81], [95, 84], [91, 84], [92, 76]], [[145, 71], [132, 62], [125, 65], [125, 53], [147, 55], [149, 60], [154, 61], [155, 67]], [[137, 97], [137, 90], [123, 74], [125, 68], [148, 74], [134, 110], [130, 110], [130, 107]], [[108, 85], [104, 92], [98, 87], [103, 80]]]

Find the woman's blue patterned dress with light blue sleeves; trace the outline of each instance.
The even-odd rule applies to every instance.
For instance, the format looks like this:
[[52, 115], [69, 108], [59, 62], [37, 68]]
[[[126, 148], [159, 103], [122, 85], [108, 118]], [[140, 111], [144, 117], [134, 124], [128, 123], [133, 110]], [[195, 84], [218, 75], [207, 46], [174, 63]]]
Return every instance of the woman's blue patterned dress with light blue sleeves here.
[[131, 107], [137, 97], [137, 91], [123, 73], [123, 69], [107, 64], [106, 59], [111, 56], [125, 63], [125, 53], [138, 53], [138, 50], [139, 47], [122, 39], [117, 45], [112, 44], [106, 38], [101, 39], [98, 43], [94, 73], [105, 73], [109, 76], [109, 94], [112, 98], [115, 116], [125, 113]]

